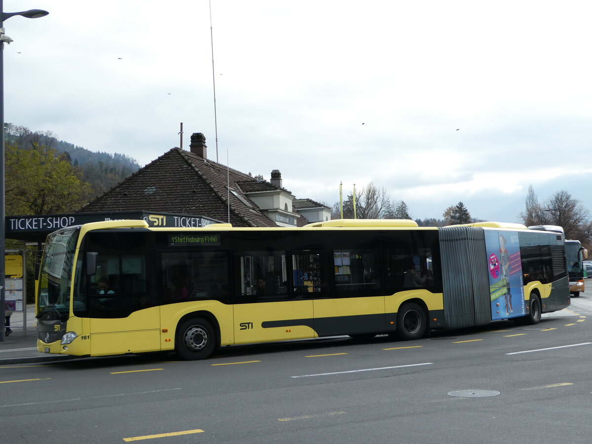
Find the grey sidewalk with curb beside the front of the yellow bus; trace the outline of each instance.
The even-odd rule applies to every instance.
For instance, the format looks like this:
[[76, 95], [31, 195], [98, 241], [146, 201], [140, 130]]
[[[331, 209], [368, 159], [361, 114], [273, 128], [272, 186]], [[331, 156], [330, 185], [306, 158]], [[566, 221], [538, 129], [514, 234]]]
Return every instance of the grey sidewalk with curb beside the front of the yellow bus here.
[[49, 355], [38, 352], [35, 305], [27, 305], [26, 329], [23, 328], [22, 315], [22, 311], [15, 311], [10, 317], [12, 333], [4, 337], [4, 342], [0, 342], [0, 365], [72, 359], [70, 356]]

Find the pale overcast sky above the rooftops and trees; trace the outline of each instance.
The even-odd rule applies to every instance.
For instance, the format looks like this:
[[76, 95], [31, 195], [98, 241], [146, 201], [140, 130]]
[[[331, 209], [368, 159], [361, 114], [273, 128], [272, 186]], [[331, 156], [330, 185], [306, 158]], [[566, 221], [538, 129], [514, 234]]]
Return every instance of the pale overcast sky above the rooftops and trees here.
[[[330, 206], [373, 182], [413, 218], [592, 207], [592, 2], [5, 0], [5, 121], [141, 166], [208, 157]], [[214, 123], [213, 79], [218, 143]], [[216, 151], [218, 150], [218, 154]]]

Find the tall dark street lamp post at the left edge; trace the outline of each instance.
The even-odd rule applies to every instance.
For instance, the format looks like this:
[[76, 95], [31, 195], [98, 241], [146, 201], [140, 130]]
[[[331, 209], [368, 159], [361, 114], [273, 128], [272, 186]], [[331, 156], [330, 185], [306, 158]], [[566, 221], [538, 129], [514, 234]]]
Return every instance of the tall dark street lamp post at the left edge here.
[[[5, 227], [5, 197], [4, 197], [4, 44], [11, 43], [12, 38], [4, 33], [4, 21], [15, 15], [26, 18], [44, 17], [49, 12], [43, 9], [29, 9], [21, 12], [4, 12], [3, 0], [0, 0], [0, 342], [4, 342], [6, 298], [5, 262], [6, 227]], [[27, 310], [27, 301], [22, 301], [22, 309]]]

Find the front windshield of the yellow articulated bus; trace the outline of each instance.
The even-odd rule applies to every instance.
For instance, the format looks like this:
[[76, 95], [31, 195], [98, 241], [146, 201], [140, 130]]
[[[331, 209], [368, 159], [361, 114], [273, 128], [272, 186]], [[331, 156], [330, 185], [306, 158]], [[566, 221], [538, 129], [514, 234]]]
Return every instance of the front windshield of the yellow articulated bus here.
[[41, 261], [38, 314], [48, 309], [69, 313], [70, 282], [78, 233], [78, 228], [75, 228], [57, 231], [47, 238]]

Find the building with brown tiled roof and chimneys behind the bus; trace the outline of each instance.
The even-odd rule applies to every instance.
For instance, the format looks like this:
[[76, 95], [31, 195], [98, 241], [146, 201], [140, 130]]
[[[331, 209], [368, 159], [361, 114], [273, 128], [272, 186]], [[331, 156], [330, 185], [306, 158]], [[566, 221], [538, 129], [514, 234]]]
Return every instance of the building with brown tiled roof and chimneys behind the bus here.
[[189, 147], [190, 152], [169, 150], [80, 212], [199, 214], [236, 227], [301, 227], [331, 218], [329, 207], [309, 199], [295, 199], [283, 188], [279, 170], [272, 171], [268, 182], [213, 162], [207, 159], [201, 133], [192, 134]]

